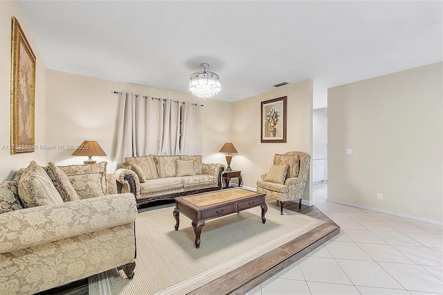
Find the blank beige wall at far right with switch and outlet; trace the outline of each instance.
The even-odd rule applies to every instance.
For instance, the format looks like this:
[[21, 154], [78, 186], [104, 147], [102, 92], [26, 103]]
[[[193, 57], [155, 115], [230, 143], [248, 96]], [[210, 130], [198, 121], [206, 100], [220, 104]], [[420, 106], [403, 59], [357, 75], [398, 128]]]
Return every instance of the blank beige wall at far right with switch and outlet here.
[[328, 199], [443, 220], [442, 67], [328, 90]]

